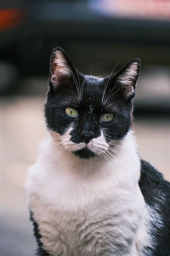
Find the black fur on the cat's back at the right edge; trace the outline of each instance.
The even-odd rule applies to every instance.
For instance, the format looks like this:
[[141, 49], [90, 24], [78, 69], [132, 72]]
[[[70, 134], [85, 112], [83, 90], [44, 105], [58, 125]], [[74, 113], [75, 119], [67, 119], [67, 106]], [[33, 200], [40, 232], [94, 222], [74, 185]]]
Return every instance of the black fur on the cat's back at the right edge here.
[[170, 255], [170, 183], [164, 180], [162, 174], [150, 163], [141, 160], [141, 177], [139, 186], [145, 202], [160, 216], [152, 222], [151, 236], [155, 243], [154, 248], [146, 250], [147, 255]]

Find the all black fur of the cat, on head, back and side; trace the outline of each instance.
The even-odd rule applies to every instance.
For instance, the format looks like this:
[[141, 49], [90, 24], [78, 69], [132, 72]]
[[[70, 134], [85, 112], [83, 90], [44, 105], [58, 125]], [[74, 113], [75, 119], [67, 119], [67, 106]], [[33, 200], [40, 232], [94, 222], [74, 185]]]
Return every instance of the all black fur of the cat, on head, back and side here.
[[[63, 62], [57, 63], [57, 54], [63, 59]], [[71, 70], [69, 72], [61, 72], [61, 67], [65, 65], [63, 70]], [[122, 76], [126, 76], [129, 67], [136, 67], [134, 75], [131, 78], [131, 86], [123, 86], [120, 82]], [[117, 74], [100, 79], [93, 76], [85, 76], [74, 68], [71, 60], [61, 48], [53, 51], [50, 65], [49, 85], [50, 89], [47, 94], [47, 102], [45, 104], [45, 117], [49, 130], [56, 131], [60, 135], [67, 131], [72, 123], [71, 140], [74, 143], [84, 142], [82, 134], [92, 137], [104, 133], [107, 142], [110, 140], [122, 140], [131, 127], [132, 120], [132, 98], [135, 94], [135, 85], [140, 70], [140, 61], [138, 59], [129, 62]], [[72, 75], [71, 75], [72, 74]], [[126, 78], [126, 77], [125, 77]], [[77, 100], [77, 86], [80, 90], [83, 86], [82, 99]], [[76, 85], [77, 83], [77, 85]], [[107, 103], [103, 104], [102, 97], [105, 88]], [[113, 95], [112, 95], [113, 94]], [[78, 101], [78, 102], [77, 102]], [[65, 114], [65, 108], [75, 108], [79, 116], [76, 118], [68, 117]], [[101, 114], [113, 113], [114, 118], [110, 122], [102, 122]], [[95, 154], [89, 149], [84, 148], [75, 151], [74, 154], [80, 158], [94, 157]], [[169, 197], [170, 186], [157, 170], [149, 163], [141, 160], [141, 177], [139, 186], [146, 204], [156, 213], [157, 223], [153, 221], [151, 225], [151, 237], [154, 241], [152, 248], [146, 248], [147, 256], [169, 256], [170, 255], [170, 211]], [[30, 220], [34, 225], [34, 235], [38, 243], [39, 256], [47, 256], [48, 252], [44, 251], [41, 242], [41, 234], [38, 224], [34, 221], [33, 214], [30, 212]]]

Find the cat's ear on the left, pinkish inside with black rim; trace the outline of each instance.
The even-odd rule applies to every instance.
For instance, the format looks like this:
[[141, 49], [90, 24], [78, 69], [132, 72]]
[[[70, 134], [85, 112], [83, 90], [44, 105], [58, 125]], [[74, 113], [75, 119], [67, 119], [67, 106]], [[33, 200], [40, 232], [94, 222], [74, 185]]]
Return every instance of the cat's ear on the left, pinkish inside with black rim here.
[[50, 62], [49, 86], [51, 89], [77, 79], [76, 70], [66, 52], [57, 47], [53, 50]]

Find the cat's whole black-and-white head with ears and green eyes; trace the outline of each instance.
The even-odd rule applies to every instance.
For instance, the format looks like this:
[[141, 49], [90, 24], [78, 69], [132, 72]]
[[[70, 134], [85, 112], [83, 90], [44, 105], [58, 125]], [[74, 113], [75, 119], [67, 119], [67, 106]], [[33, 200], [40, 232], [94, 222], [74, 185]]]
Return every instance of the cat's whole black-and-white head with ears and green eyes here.
[[109, 77], [83, 75], [65, 51], [56, 48], [45, 105], [48, 129], [60, 136], [67, 151], [80, 158], [105, 154], [131, 127], [139, 71], [140, 60], [134, 59]]

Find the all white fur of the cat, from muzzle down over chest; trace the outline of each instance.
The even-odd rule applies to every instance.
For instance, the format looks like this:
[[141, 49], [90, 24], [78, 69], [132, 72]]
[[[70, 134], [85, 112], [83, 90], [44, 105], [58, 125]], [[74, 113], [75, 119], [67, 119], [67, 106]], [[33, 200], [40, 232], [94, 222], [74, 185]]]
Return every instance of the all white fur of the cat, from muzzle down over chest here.
[[[85, 145], [69, 142], [70, 131], [57, 135], [60, 156], [56, 133], [49, 134], [29, 169], [29, 207], [44, 249], [55, 256], [145, 255], [150, 214], [138, 186], [140, 159], [132, 132], [108, 162], [99, 155], [75, 157], [69, 150]], [[88, 147], [96, 153], [108, 148], [103, 133], [92, 141]]]

